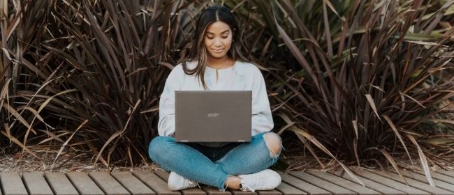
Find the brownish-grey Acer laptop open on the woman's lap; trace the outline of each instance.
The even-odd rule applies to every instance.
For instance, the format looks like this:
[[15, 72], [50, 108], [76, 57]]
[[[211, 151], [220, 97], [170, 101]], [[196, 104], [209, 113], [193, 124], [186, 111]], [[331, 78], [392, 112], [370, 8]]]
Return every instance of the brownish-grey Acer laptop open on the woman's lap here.
[[251, 91], [175, 91], [176, 141], [251, 141], [251, 102]]

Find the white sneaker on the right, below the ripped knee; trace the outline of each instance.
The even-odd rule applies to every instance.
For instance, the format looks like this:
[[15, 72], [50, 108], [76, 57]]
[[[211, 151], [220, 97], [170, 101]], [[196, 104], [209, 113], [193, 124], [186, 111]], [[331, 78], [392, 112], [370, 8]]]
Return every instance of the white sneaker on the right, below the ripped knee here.
[[265, 169], [258, 173], [238, 176], [241, 180], [241, 190], [255, 192], [256, 190], [269, 190], [281, 184], [281, 176], [276, 171]]

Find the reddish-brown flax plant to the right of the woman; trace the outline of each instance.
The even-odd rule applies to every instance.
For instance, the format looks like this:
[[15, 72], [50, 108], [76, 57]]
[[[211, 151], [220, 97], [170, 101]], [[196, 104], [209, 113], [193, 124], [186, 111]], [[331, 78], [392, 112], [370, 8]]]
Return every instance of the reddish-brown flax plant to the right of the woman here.
[[257, 1], [256, 13], [272, 10], [262, 18], [274, 45], [286, 45], [272, 54], [288, 71], [269, 71], [279, 132], [341, 165], [400, 173], [396, 159], [416, 156], [433, 185], [428, 157], [453, 153], [453, 3]]

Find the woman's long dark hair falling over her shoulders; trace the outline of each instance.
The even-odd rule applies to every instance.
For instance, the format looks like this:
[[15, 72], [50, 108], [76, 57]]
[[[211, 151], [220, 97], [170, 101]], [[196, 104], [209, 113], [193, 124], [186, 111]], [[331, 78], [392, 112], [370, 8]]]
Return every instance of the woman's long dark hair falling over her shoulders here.
[[[232, 29], [232, 46], [228, 50], [227, 55], [235, 61], [246, 61], [240, 53], [238, 24], [230, 10], [224, 6], [212, 6], [203, 10], [197, 20], [196, 31], [191, 41], [191, 51], [189, 52], [189, 56], [182, 61], [182, 65], [186, 75], [196, 74], [196, 77], [200, 78], [205, 90], [207, 89], [204, 77], [205, 67], [207, 66], [207, 49], [205, 48], [205, 44], [203, 44], [203, 40], [207, 27], [214, 22], [224, 22]], [[196, 68], [189, 69], [186, 65], [188, 61], [198, 61]]]

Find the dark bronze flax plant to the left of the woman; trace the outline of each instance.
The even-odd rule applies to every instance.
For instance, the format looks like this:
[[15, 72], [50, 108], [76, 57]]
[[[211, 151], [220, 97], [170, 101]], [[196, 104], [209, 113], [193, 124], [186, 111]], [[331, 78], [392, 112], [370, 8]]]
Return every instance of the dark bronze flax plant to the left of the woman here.
[[31, 132], [57, 158], [71, 147], [106, 166], [147, 162], [163, 83], [207, 3], [2, 3], [2, 147], [34, 155]]

